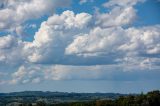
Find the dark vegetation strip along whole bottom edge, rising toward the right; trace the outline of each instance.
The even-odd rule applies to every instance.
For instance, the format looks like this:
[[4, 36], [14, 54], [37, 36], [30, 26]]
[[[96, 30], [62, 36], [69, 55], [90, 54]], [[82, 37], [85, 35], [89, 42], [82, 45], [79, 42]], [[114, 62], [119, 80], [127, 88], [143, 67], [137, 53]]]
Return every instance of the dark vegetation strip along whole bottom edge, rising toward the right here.
[[[71, 99], [72, 98], [70, 98], [70, 100]], [[46, 102], [45, 99], [42, 99], [36, 101], [35, 103], [17, 103], [17, 105], [12, 104], [7, 106], [160, 106], [160, 91], [151, 91], [147, 94], [141, 93], [139, 95], [121, 95], [115, 99], [99, 98], [96, 100], [87, 101], [68, 100], [67, 102], [61, 101], [52, 103]]]

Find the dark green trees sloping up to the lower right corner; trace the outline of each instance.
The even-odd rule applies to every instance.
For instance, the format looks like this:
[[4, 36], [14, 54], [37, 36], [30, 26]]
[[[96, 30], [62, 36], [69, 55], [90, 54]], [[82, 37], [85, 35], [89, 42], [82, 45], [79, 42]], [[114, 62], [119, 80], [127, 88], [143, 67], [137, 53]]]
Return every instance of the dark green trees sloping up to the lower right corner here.
[[160, 106], [160, 91], [147, 94], [121, 96], [115, 100], [63, 103], [50, 106]]

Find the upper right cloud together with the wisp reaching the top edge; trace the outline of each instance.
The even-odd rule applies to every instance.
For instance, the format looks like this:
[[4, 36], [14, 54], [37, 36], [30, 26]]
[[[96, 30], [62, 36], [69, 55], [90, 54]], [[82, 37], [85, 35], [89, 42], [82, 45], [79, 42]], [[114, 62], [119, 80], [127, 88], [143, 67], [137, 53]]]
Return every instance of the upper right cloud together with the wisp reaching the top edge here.
[[109, 0], [104, 3], [105, 8], [110, 9], [109, 12], [96, 12], [96, 23], [101, 27], [116, 27], [132, 24], [137, 17], [137, 10], [134, 8], [139, 2], [145, 0]]

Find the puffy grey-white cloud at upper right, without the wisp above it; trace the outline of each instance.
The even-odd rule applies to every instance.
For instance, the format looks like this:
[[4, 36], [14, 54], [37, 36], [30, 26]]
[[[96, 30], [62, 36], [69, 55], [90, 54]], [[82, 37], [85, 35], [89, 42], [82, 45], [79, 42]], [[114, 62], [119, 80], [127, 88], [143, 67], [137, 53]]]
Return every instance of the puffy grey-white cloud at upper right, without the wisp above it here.
[[102, 27], [124, 26], [132, 24], [136, 18], [133, 7], [115, 7], [109, 13], [97, 13], [96, 24]]

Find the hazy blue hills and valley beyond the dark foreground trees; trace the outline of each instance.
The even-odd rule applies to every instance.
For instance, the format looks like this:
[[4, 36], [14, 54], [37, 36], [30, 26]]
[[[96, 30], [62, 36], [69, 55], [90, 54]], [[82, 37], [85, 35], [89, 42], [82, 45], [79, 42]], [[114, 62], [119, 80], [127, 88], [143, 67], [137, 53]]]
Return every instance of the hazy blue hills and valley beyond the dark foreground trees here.
[[126, 96], [126, 94], [23, 91], [12, 93], [0, 93], [0, 103], [34, 103], [37, 101], [45, 101], [46, 103], [65, 103], [105, 99], [114, 100], [120, 96]]

